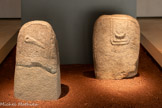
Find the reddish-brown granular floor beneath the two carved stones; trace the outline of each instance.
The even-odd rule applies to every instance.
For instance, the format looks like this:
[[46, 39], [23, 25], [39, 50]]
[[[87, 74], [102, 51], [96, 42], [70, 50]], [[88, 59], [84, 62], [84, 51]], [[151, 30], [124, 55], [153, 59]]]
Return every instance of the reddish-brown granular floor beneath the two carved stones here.
[[162, 70], [141, 47], [139, 76], [97, 80], [92, 65], [62, 65], [62, 95], [57, 101], [22, 101], [13, 96], [15, 48], [0, 65], [0, 103], [53, 108], [161, 108]]

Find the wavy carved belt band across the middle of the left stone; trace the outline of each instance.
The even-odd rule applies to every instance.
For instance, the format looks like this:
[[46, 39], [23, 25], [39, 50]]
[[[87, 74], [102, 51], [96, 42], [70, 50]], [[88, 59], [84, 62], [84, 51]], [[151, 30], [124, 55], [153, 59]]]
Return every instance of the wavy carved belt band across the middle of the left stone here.
[[40, 67], [40, 68], [48, 71], [49, 73], [52, 73], [52, 74], [55, 74], [56, 73], [56, 70], [55, 69], [52, 69], [52, 68], [43, 66], [42, 64], [40, 64], [38, 62], [31, 62], [30, 65], [16, 64], [16, 66], [22, 66], [22, 67], [28, 67], [28, 68], [30, 68], [30, 67]]

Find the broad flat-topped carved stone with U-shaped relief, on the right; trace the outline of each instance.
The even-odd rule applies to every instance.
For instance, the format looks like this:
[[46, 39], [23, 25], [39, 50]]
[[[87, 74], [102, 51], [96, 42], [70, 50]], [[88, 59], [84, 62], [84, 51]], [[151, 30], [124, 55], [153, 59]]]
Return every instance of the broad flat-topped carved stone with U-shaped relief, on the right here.
[[103, 15], [94, 26], [93, 51], [98, 79], [123, 79], [137, 74], [140, 29], [128, 15]]

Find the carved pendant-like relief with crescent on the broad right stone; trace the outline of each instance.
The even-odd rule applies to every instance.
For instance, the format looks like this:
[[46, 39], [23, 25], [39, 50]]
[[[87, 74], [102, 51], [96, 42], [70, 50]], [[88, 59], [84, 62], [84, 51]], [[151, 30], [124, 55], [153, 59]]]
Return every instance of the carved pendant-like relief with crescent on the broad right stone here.
[[127, 19], [111, 19], [111, 44], [126, 45], [129, 43]]

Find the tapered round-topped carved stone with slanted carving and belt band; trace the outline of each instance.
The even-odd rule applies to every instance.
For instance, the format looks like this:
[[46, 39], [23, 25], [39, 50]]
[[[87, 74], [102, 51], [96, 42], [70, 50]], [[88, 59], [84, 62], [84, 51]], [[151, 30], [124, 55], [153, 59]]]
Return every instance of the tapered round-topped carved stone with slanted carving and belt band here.
[[56, 35], [45, 21], [31, 21], [17, 41], [14, 95], [23, 100], [56, 100], [61, 93]]

